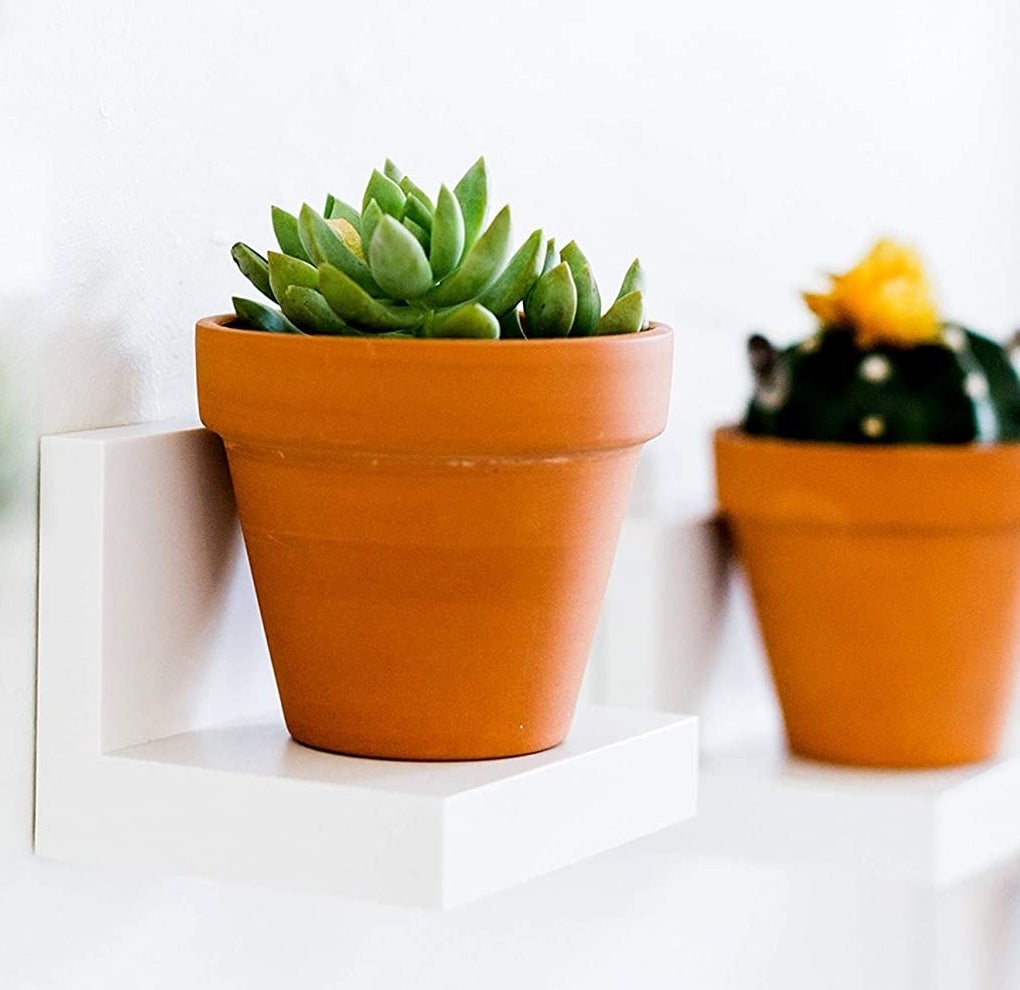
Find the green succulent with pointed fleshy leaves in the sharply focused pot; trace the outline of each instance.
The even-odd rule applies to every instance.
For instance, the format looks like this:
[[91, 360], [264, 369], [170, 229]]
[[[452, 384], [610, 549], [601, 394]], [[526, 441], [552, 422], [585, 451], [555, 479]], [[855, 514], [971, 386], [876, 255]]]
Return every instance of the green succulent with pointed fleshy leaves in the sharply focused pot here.
[[[231, 254], [278, 305], [234, 298], [239, 324], [277, 333], [420, 337], [550, 337], [643, 329], [635, 260], [602, 311], [591, 265], [574, 242], [556, 251], [541, 229], [511, 252], [510, 209], [488, 221], [479, 158], [435, 202], [396, 165], [372, 172], [360, 209], [334, 196], [321, 213], [272, 207], [279, 251]], [[521, 305], [523, 304], [523, 311]]]

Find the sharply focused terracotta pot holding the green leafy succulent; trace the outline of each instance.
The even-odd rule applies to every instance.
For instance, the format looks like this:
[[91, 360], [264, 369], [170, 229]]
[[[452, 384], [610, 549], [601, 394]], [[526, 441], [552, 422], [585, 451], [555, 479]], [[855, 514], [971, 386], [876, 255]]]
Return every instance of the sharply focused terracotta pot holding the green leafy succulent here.
[[197, 327], [288, 728], [469, 760], [566, 735], [672, 332], [556, 341]]

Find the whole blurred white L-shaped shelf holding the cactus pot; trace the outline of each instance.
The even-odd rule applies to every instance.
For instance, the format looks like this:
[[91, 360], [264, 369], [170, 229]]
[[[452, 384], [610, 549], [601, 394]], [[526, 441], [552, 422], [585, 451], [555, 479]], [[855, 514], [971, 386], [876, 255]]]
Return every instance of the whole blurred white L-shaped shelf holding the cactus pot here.
[[926, 887], [1020, 856], [1020, 694], [1007, 755], [987, 764], [886, 772], [788, 757], [747, 588], [710, 518], [630, 515], [599, 646], [592, 701], [701, 718], [698, 817], [646, 843], [663, 854], [842, 866]]

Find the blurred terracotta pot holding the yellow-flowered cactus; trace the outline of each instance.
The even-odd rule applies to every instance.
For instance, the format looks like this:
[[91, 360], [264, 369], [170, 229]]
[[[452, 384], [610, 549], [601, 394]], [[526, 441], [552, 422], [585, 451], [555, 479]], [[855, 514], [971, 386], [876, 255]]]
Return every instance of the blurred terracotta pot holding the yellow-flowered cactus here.
[[1020, 445], [715, 437], [790, 748], [871, 767], [998, 747], [1020, 618]]

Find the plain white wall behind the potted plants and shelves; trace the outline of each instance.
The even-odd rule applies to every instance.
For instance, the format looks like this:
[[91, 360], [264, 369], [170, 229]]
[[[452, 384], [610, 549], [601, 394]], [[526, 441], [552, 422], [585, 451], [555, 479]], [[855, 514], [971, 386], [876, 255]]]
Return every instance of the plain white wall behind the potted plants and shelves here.
[[875, 233], [923, 247], [953, 315], [1020, 320], [1018, 49], [1015, 0], [0, 0], [0, 985], [743, 987], [827, 954], [826, 986], [907, 986], [884, 923], [920, 908], [846, 880], [623, 850], [442, 917], [31, 858], [34, 451], [194, 413], [194, 320], [270, 202], [484, 152], [518, 235], [578, 239], [607, 288], [642, 255], [678, 330], [653, 501], [703, 512], [747, 329], [803, 331], [796, 290]]

